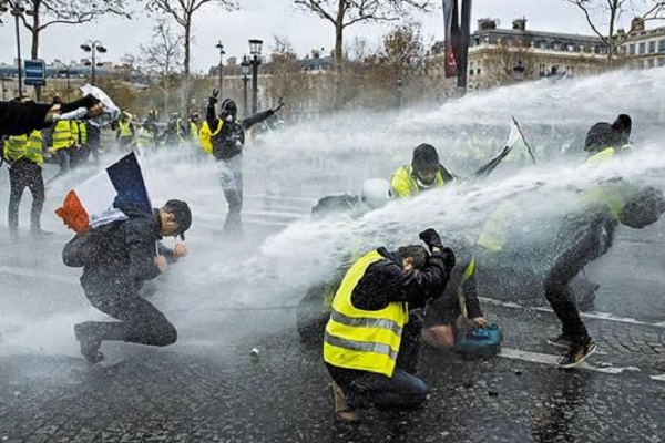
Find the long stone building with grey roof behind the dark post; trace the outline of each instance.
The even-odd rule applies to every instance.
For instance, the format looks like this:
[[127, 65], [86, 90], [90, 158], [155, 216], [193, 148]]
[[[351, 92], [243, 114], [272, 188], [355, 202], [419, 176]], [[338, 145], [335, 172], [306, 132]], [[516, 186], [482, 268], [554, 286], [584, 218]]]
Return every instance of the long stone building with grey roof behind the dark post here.
[[[443, 76], [443, 44], [432, 47], [428, 74]], [[590, 75], [605, 70], [607, 47], [593, 35], [526, 29], [516, 19], [511, 29], [481, 19], [469, 44], [468, 89], [488, 89], [550, 75]]]

